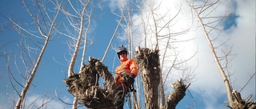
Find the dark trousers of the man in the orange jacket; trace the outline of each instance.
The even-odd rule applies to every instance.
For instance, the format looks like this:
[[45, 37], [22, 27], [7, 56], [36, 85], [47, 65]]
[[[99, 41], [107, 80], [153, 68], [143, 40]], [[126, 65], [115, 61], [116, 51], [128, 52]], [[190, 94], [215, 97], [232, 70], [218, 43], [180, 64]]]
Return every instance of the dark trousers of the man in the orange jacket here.
[[126, 84], [119, 83], [116, 85], [115, 93], [114, 93], [114, 105], [118, 109], [123, 109], [123, 105], [125, 103], [126, 92], [127, 92]]

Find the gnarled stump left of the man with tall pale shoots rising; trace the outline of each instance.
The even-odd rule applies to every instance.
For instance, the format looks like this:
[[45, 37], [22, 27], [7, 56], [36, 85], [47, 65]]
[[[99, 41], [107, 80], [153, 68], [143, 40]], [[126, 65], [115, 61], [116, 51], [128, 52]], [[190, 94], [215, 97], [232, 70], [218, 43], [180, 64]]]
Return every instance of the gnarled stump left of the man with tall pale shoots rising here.
[[[106, 54], [115, 35], [113, 35], [112, 40], [110, 41], [110, 44], [106, 49], [106, 53], [102, 58], [102, 62], [100, 62], [98, 59], [90, 58], [89, 64], [84, 64], [87, 45], [86, 39], [88, 39], [90, 22], [91, 18], [93, 18], [92, 14], [94, 12], [94, 3], [95, 2], [90, 0], [77, 2], [68, 1], [68, 4], [71, 7], [70, 9], [72, 11], [70, 12], [70, 9], [62, 9], [62, 12], [66, 14], [70, 25], [72, 25], [71, 27], [74, 29], [75, 32], [78, 33], [78, 36], [70, 33], [71, 30], [69, 27], [66, 27], [67, 33], [58, 31], [62, 35], [70, 37], [70, 39], [72, 40], [72, 42], [70, 42], [70, 49], [74, 52], [71, 53], [72, 55], [69, 64], [68, 79], [64, 80], [64, 82], [69, 86], [68, 91], [70, 91], [70, 93], [74, 95], [74, 109], [78, 107], [78, 99], [82, 101], [82, 105], [85, 105], [89, 108], [113, 107], [113, 103], [111, 103], [110, 99], [107, 99], [107, 97], [110, 95], [109, 93], [111, 93], [112, 90], [112, 74], [107, 71], [107, 68], [104, 65], [102, 66], [101, 64], [105, 60]], [[78, 8], [75, 8], [75, 6], [78, 6]], [[82, 37], [85, 39], [84, 42], [82, 42]], [[72, 45], [73, 43], [75, 45]], [[74, 64], [77, 62], [77, 57], [81, 44], [83, 45], [83, 50], [82, 59], [79, 60], [81, 63], [80, 69], [78, 73], [75, 73]], [[98, 68], [98, 66], [100, 67]], [[106, 89], [102, 89], [99, 87], [99, 76], [102, 76], [102, 78], [106, 80]], [[105, 90], [107, 90], [108, 92]]]

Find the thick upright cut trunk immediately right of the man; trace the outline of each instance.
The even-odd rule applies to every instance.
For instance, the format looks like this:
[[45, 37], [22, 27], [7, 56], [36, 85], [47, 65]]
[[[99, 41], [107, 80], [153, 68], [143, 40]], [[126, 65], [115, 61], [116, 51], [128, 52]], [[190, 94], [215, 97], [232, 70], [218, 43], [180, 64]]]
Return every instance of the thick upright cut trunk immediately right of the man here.
[[136, 48], [134, 60], [142, 76], [145, 95], [145, 108], [158, 108], [158, 85], [160, 83], [160, 68], [158, 50]]

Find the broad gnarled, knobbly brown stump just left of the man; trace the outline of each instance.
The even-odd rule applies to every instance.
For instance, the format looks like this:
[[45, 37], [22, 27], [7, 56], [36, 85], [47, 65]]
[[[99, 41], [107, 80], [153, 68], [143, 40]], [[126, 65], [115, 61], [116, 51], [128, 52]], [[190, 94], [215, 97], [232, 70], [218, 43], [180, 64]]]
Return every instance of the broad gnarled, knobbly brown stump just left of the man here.
[[[106, 86], [98, 86], [99, 77], [106, 81]], [[63, 80], [67, 90], [82, 101], [88, 108], [100, 109], [113, 107], [113, 77], [107, 67], [98, 59], [90, 58], [89, 64], [83, 64], [82, 71]], [[111, 84], [110, 84], [111, 83]]]

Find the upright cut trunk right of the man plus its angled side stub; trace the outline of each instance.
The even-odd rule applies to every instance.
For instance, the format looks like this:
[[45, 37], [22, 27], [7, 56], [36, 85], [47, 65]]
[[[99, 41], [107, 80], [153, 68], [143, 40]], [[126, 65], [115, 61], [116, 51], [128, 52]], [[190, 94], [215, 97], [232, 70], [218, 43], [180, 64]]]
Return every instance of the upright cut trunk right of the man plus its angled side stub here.
[[[158, 50], [136, 48], [134, 60], [138, 64], [138, 69], [142, 76], [142, 84], [145, 96], [145, 108], [157, 109], [158, 107], [158, 85], [160, 83], [160, 64]], [[167, 103], [162, 109], [174, 109], [178, 102], [186, 95], [185, 85], [180, 79], [174, 84], [174, 91], [168, 96]]]

